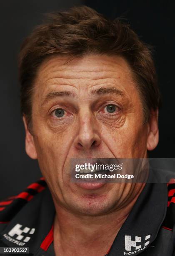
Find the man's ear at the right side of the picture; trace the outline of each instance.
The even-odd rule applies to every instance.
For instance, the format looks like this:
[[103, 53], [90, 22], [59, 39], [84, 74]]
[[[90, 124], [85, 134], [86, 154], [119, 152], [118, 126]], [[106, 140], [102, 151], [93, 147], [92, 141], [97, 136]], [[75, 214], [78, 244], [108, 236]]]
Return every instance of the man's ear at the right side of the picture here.
[[147, 138], [147, 149], [153, 150], [156, 148], [159, 142], [159, 129], [158, 129], [158, 109], [151, 110], [150, 120], [148, 122], [148, 138]]

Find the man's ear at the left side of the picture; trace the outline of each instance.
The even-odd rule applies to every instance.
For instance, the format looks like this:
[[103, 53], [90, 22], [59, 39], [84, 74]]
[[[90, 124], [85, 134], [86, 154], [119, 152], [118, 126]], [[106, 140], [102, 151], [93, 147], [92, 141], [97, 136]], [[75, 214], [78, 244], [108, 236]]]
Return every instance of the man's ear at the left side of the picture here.
[[26, 118], [23, 115], [23, 122], [25, 127], [25, 151], [32, 159], [37, 159], [37, 152], [32, 134], [28, 129]]

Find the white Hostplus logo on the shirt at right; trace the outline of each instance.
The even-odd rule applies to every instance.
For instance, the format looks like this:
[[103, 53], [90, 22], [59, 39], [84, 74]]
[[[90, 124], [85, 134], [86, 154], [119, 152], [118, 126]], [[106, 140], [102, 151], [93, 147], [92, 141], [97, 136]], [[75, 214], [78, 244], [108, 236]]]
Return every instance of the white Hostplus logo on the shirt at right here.
[[141, 236], [135, 236], [135, 240], [131, 240], [131, 236], [125, 236], [125, 252], [124, 255], [132, 255], [139, 251], [142, 251], [148, 246], [150, 240], [148, 240], [151, 236], [145, 236], [143, 241]]

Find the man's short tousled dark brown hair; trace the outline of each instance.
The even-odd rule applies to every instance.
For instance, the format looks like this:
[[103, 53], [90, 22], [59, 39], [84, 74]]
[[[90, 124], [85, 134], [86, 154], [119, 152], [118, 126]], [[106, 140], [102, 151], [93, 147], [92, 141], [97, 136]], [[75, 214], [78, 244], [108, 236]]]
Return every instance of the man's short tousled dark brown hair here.
[[46, 22], [37, 26], [21, 47], [21, 111], [27, 122], [31, 120], [33, 82], [42, 61], [52, 55], [81, 57], [90, 53], [125, 58], [140, 92], [145, 122], [148, 121], [150, 110], [160, 106], [150, 47], [140, 41], [127, 23], [118, 18], [108, 20], [95, 10], [81, 6], [49, 14]]

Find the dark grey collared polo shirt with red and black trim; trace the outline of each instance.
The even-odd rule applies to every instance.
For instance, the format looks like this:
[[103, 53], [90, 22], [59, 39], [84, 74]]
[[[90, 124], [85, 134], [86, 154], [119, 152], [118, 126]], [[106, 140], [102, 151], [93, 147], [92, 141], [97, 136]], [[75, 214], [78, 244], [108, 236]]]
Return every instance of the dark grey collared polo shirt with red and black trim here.
[[[0, 202], [0, 247], [29, 247], [28, 255], [55, 256], [54, 217], [52, 196], [41, 178]], [[175, 183], [145, 184], [106, 255], [175, 256]]]

